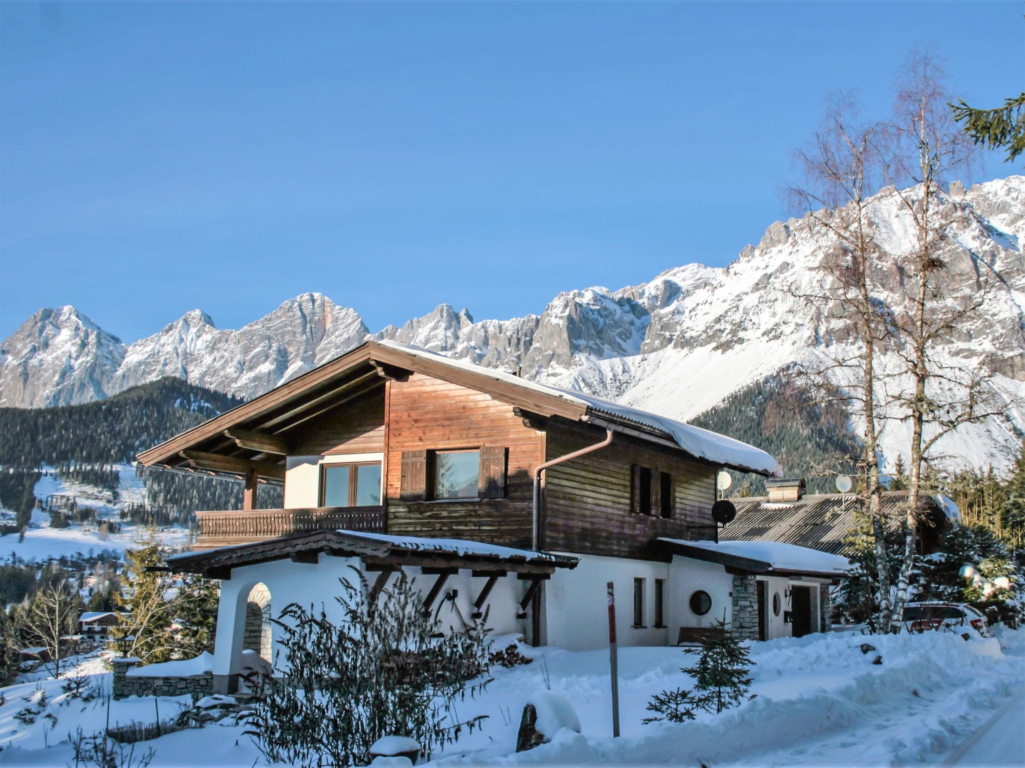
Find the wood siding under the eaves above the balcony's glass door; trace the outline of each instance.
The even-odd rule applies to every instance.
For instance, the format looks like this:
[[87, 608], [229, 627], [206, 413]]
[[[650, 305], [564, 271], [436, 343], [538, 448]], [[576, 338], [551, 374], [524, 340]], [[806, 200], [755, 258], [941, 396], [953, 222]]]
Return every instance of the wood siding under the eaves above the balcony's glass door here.
[[384, 451], [384, 386], [295, 427], [294, 456]]

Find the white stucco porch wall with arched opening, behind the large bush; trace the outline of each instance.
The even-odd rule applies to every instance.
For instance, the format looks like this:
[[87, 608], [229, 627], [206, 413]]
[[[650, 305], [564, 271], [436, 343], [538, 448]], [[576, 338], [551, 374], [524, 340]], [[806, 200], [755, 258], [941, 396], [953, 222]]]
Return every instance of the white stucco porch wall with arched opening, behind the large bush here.
[[[372, 586], [377, 579], [376, 572], [366, 572], [359, 558], [331, 557], [320, 555], [318, 563], [296, 563], [291, 560], [275, 560], [273, 562], [246, 565], [233, 568], [232, 578], [221, 582], [220, 603], [217, 613], [217, 640], [214, 647], [213, 674], [229, 675], [237, 672], [242, 653], [242, 637], [245, 629], [245, 605], [250, 590], [259, 583], [265, 585], [271, 593], [271, 614], [277, 618], [282, 609], [289, 603], [298, 603], [304, 607], [311, 605], [319, 611], [321, 606], [328, 620], [340, 623], [341, 606], [335, 597], [342, 594], [338, 579], [353, 582], [358, 578], [351, 566], [361, 569], [367, 582]], [[415, 579], [414, 584], [421, 594], [425, 595], [434, 585], [436, 575], [422, 575], [419, 568], [407, 568], [408, 575]], [[395, 580], [396, 577], [392, 577]], [[441, 631], [451, 628], [461, 631], [462, 620], [453, 608], [458, 606], [462, 618], [471, 623], [473, 601], [487, 582], [483, 578], [475, 578], [469, 570], [460, 570], [448, 578], [445, 588], [435, 601], [433, 614], [437, 612], [441, 622]], [[392, 584], [389, 581], [388, 584]], [[510, 574], [499, 579], [488, 597], [487, 626], [491, 635], [508, 633], [522, 634], [524, 621], [517, 618], [519, 601], [526, 591], [526, 582]], [[455, 591], [454, 600], [443, 598]], [[439, 606], [441, 610], [439, 611]], [[272, 629], [272, 657], [277, 656], [280, 649], [280, 629]]]

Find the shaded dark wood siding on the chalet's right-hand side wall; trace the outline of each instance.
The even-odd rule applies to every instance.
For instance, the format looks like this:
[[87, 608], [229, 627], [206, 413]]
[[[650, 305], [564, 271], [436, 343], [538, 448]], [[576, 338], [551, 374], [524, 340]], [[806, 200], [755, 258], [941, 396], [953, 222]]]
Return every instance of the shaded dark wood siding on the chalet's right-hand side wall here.
[[[599, 429], [581, 429], [552, 421], [547, 430], [547, 460], [598, 442]], [[634, 466], [672, 475], [674, 509], [663, 519], [633, 514], [631, 479]], [[545, 472], [545, 549], [560, 552], [656, 559], [650, 546], [656, 537], [697, 540], [714, 537], [711, 505], [715, 502], [715, 468], [652, 451], [617, 434], [608, 447], [560, 464]], [[655, 474], [655, 477], [658, 477]]]

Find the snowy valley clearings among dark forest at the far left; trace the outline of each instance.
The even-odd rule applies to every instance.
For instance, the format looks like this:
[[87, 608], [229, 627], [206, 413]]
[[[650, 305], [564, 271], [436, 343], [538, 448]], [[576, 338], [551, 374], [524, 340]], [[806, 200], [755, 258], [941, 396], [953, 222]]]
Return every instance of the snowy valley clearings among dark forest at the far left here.
[[[116, 499], [106, 488], [59, 477], [53, 467], [43, 467], [44, 474], [36, 482], [34, 489], [36, 498], [45, 505], [54, 495], [68, 497], [74, 499], [78, 507], [95, 509], [99, 519], [120, 522], [122, 510], [146, 501], [146, 482], [135, 476], [135, 468], [129, 464], [118, 464], [114, 469], [119, 473]], [[89, 523], [84, 529], [78, 524], [67, 528], [51, 528], [49, 515], [36, 510], [32, 516], [32, 525], [26, 530], [25, 541], [18, 541], [17, 534], [0, 536], [0, 560], [8, 560], [14, 556], [26, 562], [46, 562], [51, 558], [73, 557], [78, 554], [99, 555], [105, 552], [120, 557], [125, 550], [135, 545], [139, 532], [137, 526], [132, 524], [124, 524], [119, 532], [106, 537], [99, 534], [93, 523]], [[164, 528], [161, 531], [164, 543], [173, 548], [183, 547], [188, 536], [184, 528]]]

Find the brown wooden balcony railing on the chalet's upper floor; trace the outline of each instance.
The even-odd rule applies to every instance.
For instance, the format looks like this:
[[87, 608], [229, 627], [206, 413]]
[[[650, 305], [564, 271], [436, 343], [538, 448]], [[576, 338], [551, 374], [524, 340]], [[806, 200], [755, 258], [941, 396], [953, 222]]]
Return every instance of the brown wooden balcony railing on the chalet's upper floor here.
[[314, 507], [197, 512], [194, 550], [232, 547], [311, 530], [385, 532], [384, 507]]

